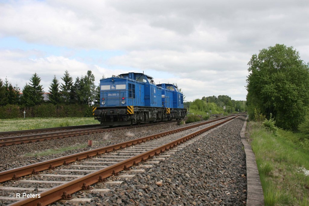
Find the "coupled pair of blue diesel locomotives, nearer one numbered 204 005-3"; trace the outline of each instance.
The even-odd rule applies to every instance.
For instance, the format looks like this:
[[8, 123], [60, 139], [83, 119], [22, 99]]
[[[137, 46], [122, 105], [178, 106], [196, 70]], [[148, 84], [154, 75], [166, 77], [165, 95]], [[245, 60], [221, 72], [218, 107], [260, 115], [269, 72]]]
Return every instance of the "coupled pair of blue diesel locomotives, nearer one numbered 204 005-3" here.
[[183, 94], [173, 84], [155, 84], [151, 76], [127, 73], [100, 80], [102, 125], [119, 126], [181, 119], [187, 114]]

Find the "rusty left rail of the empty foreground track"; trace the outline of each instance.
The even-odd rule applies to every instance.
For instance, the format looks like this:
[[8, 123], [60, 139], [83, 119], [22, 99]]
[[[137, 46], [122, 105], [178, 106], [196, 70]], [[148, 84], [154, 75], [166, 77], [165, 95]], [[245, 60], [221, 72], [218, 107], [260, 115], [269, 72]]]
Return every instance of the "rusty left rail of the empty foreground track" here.
[[228, 118], [228, 117], [232, 117], [232, 116], [226, 116], [224, 118], [214, 119], [214, 120], [210, 120], [210, 121], [207, 121], [207, 122], [201, 122], [201, 123], [190, 125], [190, 126], [187, 126], [187, 127], [182, 127], [182, 128], [176, 129], [176, 130], [161, 132], [161, 133], [158, 133], [158, 134], [155, 134], [155, 135], [149, 135], [149, 136], [146, 136], [146, 137], [141, 137], [141, 138], [129, 140], [129, 141], [126, 141], [126, 142], [113, 144], [113, 145], [102, 147], [102, 148], [96, 148], [96, 149], [92, 149], [92, 150], [85, 151], [85, 152], [79, 152], [79, 153], [64, 156], [64, 157], [58, 157], [58, 158], [52, 159], [52, 160], [46, 160], [46, 161], [38, 162], [38, 163], [35, 163], [35, 164], [26, 165], [26, 166], [11, 169], [11, 170], [2, 171], [2, 172], [0, 172], [0, 182], [5, 182], [5, 181], [8, 181], [8, 180], [16, 180], [19, 177], [22, 177], [22, 176], [25, 176], [25, 175], [28, 175], [28, 174], [36, 174], [39, 171], [53, 169], [56, 166], [66, 165], [66, 164], [74, 162], [74, 161], [82, 160], [82, 159], [85, 159], [85, 158], [90, 158], [90, 157], [100, 155], [100, 154], [103, 154], [103, 153], [106, 153], [106, 152], [114, 151], [114, 150], [117, 150], [117, 149], [121, 149], [121, 148], [124, 148], [124, 147], [134, 145], [134, 144], [139, 144], [139, 143], [147, 141], [147, 140], [151, 140], [151, 139], [155, 139], [155, 138], [162, 137], [162, 136], [165, 136], [165, 135], [173, 134], [173, 133], [176, 133], [176, 132], [179, 132], [179, 131], [191, 129], [191, 128], [194, 128], [194, 127], [198, 127], [198, 126], [201, 126], [201, 125], [204, 125], [204, 124], [208, 124], [210, 122], [219, 121], [219, 120], [222, 120], [222, 119], [225, 119], [225, 118]]

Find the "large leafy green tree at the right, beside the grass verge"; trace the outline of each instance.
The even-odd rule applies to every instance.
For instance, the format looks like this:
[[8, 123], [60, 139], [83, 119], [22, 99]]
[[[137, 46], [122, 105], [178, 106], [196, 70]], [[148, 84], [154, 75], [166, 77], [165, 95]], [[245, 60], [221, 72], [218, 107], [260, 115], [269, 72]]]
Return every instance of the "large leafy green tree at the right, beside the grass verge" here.
[[293, 47], [276, 44], [252, 55], [248, 63], [247, 104], [276, 119], [276, 125], [295, 130], [309, 104], [309, 67]]

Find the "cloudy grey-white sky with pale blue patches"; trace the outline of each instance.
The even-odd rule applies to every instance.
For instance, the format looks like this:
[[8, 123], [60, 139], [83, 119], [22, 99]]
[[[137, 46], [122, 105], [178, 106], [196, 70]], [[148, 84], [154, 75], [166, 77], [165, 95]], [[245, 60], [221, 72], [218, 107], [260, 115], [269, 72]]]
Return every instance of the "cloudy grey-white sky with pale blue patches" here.
[[36, 72], [49, 92], [75, 79], [144, 72], [186, 101], [246, 100], [248, 62], [285, 44], [309, 62], [308, 0], [0, 0], [0, 78], [21, 89]]

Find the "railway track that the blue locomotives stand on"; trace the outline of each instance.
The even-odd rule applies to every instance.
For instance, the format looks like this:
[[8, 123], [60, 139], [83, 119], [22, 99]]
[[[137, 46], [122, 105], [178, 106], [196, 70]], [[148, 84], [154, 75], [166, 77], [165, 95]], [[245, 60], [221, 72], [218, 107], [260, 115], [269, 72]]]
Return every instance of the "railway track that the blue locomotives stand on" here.
[[[169, 122], [175, 122], [176, 120], [172, 120]], [[66, 137], [74, 137], [74, 136], [80, 136], [80, 135], [90, 135], [95, 133], [101, 133], [101, 132], [108, 132], [108, 131], [116, 131], [116, 130], [122, 130], [122, 129], [129, 129], [129, 128], [135, 128], [135, 127], [146, 127], [150, 125], [155, 124], [164, 124], [169, 122], [158, 122], [158, 123], [150, 123], [150, 124], [141, 124], [141, 125], [134, 125], [134, 126], [128, 126], [128, 127], [114, 127], [114, 128], [106, 128], [106, 127], [93, 127], [93, 126], [100, 126], [100, 125], [89, 125], [91, 128], [83, 128], [83, 129], [77, 129], [77, 130], [68, 130], [68, 131], [57, 131], [57, 132], [48, 132], [48, 133], [39, 133], [39, 130], [36, 130], [36, 134], [30, 134], [30, 135], [22, 135], [22, 136], [11, 136], [11, 137], [3, 137], [0, 138], [0, 147], [4, 146], [10, 146], [10, 145], [16, 145], [16, 144], [25, 144], [25, 143], [32, 143], [32, 142], [40, 142], [40, 141], [46, 141], [50, 139], [61, 139]], [[75, 126], [72, 126], [72, 128], [78, 128]], [[81, 127], [81, 126], [80, 126]], [[85, 127], [85, 126], [84, 126]], [[55, 127], [58, 128], [58, 127]], [[71, 128], [71, 127], [69, 127]], [[48, 128], [48, 130], [54, 129], [54, 128]], [[61, 130], [64, 128], [61, 127]], [[55, 129], [56, 130], [56, 129]], [[19, 131], [14, 131], [19, 132]], [[22, 132], [22, 131], [20, 131]]]

